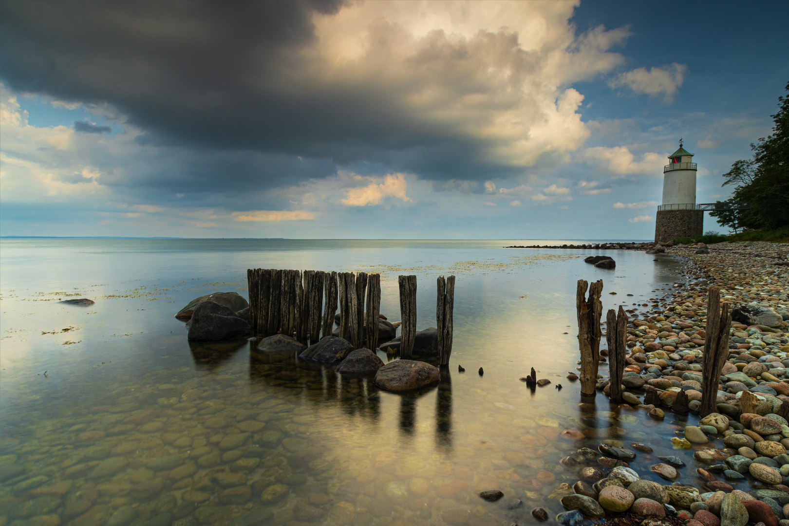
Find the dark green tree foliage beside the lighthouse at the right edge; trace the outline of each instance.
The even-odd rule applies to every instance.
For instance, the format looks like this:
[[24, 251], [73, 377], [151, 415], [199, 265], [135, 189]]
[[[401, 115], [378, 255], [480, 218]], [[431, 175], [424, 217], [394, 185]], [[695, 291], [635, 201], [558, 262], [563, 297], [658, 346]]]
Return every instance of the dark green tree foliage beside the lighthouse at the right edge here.
[[[789, 91], [789, 83], [786, 86]], [[781, 229], [789, 226], [789, 96], [778, 97], [772, 134], [751, 144], [753, 160], [739, 160], [724, 173], [724, 184], [735, 185], [724, 203], [747, 203], [749, 210], [712, 211], [718, 224], [739, 229]]]

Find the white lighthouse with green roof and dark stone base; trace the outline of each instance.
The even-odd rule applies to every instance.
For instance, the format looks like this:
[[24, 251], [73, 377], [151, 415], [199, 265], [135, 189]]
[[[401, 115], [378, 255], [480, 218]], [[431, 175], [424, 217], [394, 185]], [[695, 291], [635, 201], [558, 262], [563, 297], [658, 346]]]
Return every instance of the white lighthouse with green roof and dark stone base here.
[[704, 210], [696, 204], [694, 154], [682, 147], [668, 156], [663, 168], [663, 202], [657, 207], [655, 242], [694, 237], [704, 231]]

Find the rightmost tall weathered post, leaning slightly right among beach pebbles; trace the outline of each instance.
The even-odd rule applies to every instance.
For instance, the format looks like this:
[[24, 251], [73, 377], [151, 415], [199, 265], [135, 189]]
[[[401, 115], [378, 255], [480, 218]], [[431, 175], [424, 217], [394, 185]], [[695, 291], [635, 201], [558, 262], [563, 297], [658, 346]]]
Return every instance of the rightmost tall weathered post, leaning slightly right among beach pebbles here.
[[701, 407], [698, 414], [701, 418], [711, 412], [717, 412], [716, 401], [720, 373], [729, 357], [729, 326], [731, 326], [730, 305], [720, 304], [720, 287], [707, 289], [707, 337], [704, 341], [704, 355], [701, 356]]

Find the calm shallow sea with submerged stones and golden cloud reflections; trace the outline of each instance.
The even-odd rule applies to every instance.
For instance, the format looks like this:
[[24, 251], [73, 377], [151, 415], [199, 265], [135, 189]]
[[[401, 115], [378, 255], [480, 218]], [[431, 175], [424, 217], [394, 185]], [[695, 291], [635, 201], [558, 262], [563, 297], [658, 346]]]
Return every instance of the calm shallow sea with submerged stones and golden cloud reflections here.
[[[576, 281], [602, 278], [604, 309], [630, 308], [667, 293], [679, 262], [608, 251], [617, 268], [601, 270], [583, 263], [599, 251], [502, 248], [534, 242], [0, 241], [0, 526], [508, 526], [559, 513], [552, 492], [578, 480], [559, 459], [603, 440], [652, 444], [633, 467], [657, 479], [650, 460], [678, 453], [671, 419], [580, 404], [565, 376]], [[436, 277], [455, 274], [449, 371], [392, 394], [297, 356], [251, 360], [245, 338], [187, 341], [174, 313], [246, 297], [249, 267], [379, 272], [390, 321], [398, 274], [417, 274], [420, 330], [436, 323]], [[530, 367], [552, 384], [530, 391]], [[567, 427], [590, 438], [557, 438]], [[505, 498], [477, 497], [490, 489]]]

